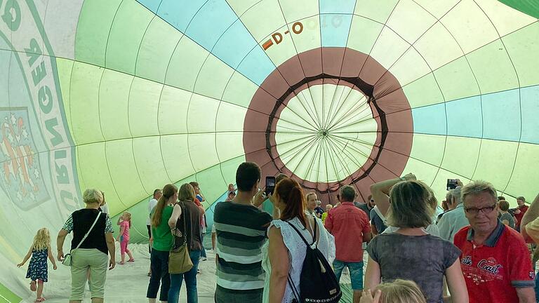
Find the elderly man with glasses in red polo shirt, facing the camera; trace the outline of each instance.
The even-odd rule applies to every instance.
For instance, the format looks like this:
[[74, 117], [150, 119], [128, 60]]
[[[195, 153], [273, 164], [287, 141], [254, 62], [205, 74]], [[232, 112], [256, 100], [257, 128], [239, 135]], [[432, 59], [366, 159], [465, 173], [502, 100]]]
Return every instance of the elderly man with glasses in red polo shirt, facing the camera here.
[[534, 273], [524, 238], [498, 220], [496, 190], [484, 181], [461, 191], [469, 227], [455, 234], [470, 303], [535, 302]]

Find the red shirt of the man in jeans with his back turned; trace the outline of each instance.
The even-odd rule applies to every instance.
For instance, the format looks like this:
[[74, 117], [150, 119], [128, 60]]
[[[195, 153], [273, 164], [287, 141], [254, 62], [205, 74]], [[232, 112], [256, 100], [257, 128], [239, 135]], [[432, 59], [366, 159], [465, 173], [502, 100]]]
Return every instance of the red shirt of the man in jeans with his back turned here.
[[363, 235], [371, 232], [363, 210], [352, 202], [342, 203], [329, 211], [324, 225], [335, 236], [335, 260], [363, 262]]

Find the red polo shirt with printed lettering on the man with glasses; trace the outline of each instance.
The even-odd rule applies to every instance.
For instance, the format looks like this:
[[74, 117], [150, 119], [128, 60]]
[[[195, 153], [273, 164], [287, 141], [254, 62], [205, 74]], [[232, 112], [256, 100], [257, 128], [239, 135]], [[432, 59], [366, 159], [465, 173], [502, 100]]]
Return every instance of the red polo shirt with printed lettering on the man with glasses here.
[[533, 288], [534, 274], [524, 238], [498, 220], [498, 226], [483, 245], [472, 242], [470, 226], [455, 234], [460, 249], [470, 303], [519, 302], [515, 288]]

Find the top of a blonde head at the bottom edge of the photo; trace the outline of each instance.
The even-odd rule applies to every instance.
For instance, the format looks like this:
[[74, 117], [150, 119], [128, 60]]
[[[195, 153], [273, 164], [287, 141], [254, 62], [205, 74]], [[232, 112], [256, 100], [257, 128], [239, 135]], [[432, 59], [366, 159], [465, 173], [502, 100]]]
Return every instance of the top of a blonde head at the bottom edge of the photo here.
[[360, 303], [427, 303], [418, 285], [413, 281], [397, 279], [378, 285], [373, 295], [365, 290]]

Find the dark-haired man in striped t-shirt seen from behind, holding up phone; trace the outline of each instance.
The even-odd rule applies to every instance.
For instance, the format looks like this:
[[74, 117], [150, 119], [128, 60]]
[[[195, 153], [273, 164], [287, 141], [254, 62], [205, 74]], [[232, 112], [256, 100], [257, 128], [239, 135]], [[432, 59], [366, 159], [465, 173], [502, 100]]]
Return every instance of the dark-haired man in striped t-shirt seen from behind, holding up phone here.
[[232, 201], [215, 206], [217, 231], [216, 303], [262, 302], [265, 272], [262, 245], [272, 216], [260, 210], [265, 196], [258, 189], [260, 167], [241, 163], [236, 172], [238, 194]]

